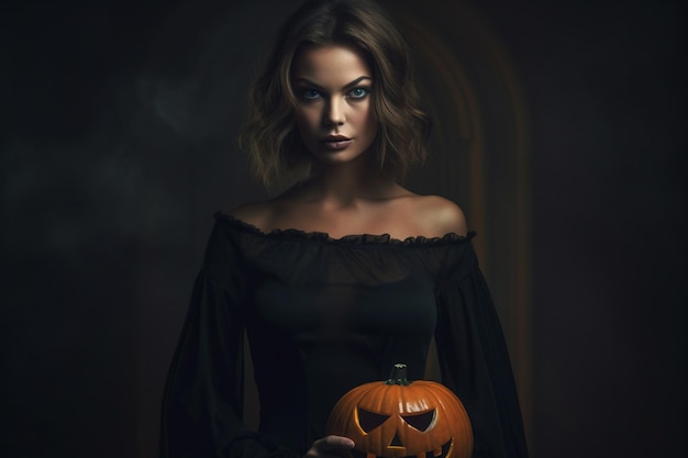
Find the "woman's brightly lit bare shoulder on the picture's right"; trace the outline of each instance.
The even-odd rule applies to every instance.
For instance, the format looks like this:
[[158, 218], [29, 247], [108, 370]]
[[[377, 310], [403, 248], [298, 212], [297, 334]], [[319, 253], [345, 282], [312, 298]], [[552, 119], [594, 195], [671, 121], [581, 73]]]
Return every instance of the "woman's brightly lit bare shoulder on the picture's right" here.
[[414, 200], [414, 214], [425, 233], [434, 236], [468, 233], [466, 215], [456, 203], [440, 196], [418, 196]]

